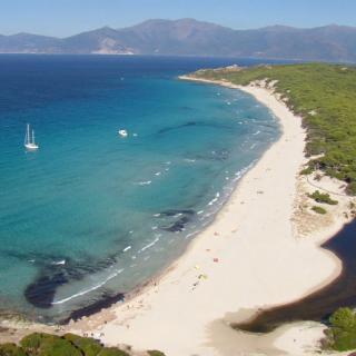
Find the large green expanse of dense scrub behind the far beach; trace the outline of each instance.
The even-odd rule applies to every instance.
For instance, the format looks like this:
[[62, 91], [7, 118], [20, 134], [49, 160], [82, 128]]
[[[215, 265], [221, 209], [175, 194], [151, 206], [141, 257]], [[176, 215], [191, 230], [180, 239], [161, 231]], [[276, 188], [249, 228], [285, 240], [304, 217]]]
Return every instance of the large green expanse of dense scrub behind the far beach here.
[[199, 70], [196, 79], [246, 86], [264, 82], [303, 117], [307, 130], [304, 174], [320, 170], [356, 195], [356, 67], [328, 63], [228, 67]]

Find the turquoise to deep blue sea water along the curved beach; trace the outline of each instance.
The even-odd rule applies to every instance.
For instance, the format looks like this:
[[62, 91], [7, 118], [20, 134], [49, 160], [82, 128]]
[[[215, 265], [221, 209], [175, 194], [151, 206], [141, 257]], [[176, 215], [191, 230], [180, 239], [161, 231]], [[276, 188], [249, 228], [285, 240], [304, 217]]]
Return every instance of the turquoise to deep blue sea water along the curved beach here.
[[0, 56], [2, 310], [57, 322], [184, 251], [279, 135], [249, 95], [177, 80], [234, 62]]

